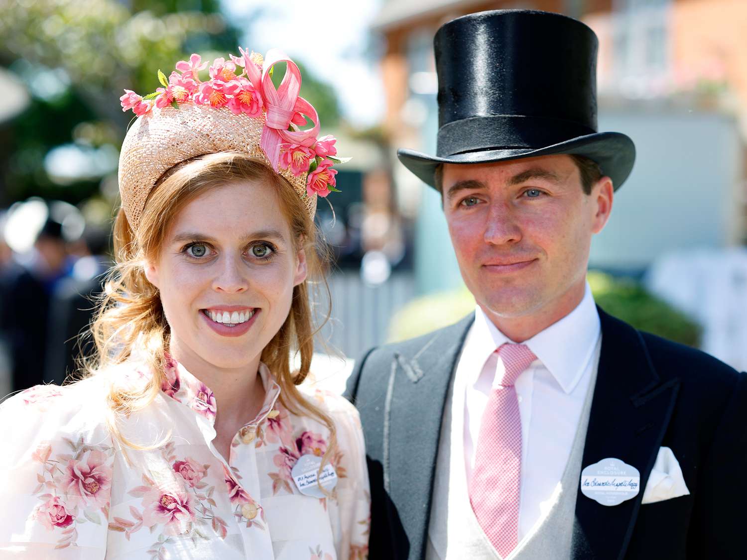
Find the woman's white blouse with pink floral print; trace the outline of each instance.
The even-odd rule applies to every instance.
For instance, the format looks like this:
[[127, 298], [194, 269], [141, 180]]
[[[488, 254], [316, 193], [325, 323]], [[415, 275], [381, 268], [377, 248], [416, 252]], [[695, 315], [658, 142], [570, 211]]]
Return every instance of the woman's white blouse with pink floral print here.
[[[298, 491], [291, 469], [323, 455], [329, 431], [282, 408], [260, 367], [261, 411], [235, 434], [229, 461], [214, 448], [217, 404], [181, 364], [167, 362], [161, 393], [118, 426], [104, 396], [111, 379], [37, 386], [0, 405], [0, 557], [28, 559], [283, 559], [368, 557], [370, 496], [358, 413], [341, 396], [301, 387], [335, 423], [338, 476], [329, 497]], [[156, 447], [155, 447], [156, 446]]]

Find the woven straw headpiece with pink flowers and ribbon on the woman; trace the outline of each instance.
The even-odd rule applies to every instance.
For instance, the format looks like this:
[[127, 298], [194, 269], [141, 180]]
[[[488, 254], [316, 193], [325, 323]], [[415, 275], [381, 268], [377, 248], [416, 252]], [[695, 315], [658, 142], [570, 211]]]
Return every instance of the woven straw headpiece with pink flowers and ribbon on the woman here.
[[[119, 185], [122, 208], [133, 231], [148, 195], [176, 164], [216, 152], [244, 152], [264, 161], [287, 179], [313, 219], [317, 196], [335, 187], [335, 138], [317, 137], [317, 111], [299, 96], [298, 66], [279, 50], [266, 57], [239, 49], [241, 57], [217, 58], [210, 79], [198, 72], [208, 63], [199, 55], [176, 64], [163, 87], [147, 96], [125, 90], [123, 111], [137, 120], [127, 131], [120, 152]], [[279, 87], [272, 81], [276, 63], [287, 63]], [[307, 119], [311, 128], [306, 127]]]

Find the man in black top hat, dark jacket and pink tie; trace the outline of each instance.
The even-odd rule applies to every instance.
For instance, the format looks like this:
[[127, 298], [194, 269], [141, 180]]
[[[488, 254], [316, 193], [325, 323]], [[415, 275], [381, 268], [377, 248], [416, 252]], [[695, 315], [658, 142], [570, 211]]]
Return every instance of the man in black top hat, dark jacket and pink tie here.
[[350, 377], [371, 558], [746, 558], [747, 377], [586, 284], [635, 154], [596, 132], [595, 34], [498, 10], [435, 48], [438, 155], [399, 156], [441, 193], [477, 309]]

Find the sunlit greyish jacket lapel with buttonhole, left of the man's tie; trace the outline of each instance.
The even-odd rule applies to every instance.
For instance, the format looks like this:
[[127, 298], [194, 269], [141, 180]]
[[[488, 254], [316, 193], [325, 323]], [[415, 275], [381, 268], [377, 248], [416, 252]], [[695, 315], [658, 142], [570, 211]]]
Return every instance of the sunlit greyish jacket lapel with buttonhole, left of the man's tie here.
[[452, 373], [474, 316], [394, 353], [384, 402], [384, 486], [409, 537], [425, 554], [441, 418]]

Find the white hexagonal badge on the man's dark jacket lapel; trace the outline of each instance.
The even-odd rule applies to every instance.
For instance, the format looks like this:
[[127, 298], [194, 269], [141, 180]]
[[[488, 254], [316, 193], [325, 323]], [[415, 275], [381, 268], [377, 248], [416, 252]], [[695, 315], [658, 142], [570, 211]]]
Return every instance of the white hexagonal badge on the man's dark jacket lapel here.
[[581, 471], [581, 493], [601, 505], [619, 505], [636, 497], [640, 485], [638, 469], [612, 457]]

